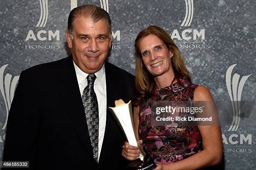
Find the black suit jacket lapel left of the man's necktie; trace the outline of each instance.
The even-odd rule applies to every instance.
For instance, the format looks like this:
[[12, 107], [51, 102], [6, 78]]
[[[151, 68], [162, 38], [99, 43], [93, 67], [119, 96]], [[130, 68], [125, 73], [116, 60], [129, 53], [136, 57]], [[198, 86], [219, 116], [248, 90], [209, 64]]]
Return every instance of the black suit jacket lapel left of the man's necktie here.
[[84, 148], [95, 161], [72, 55], [68, 57], [66, 62], [59, 77], [59, 91]]

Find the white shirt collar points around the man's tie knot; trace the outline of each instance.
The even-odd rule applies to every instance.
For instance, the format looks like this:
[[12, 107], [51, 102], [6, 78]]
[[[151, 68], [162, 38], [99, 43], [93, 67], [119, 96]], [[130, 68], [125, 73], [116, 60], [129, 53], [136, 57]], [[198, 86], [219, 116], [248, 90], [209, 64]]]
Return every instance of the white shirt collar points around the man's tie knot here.
[[[76, 75], [77, 75], [77, 82], [80, 85], [85, 79], [86, 77], [89, 75], [86, 72], [83, 72], [74, 62], [74, 68], [76, 71]], [[102, 85], [102, 87], [105, 87], [105, 63], [102, 65], [102, 67], [100, 68], [99, 71], [94, 73], [97, 77], [97, 80], [99, 80], [100, 84]], [[86, 80], [87, 81], [87, 80]]]

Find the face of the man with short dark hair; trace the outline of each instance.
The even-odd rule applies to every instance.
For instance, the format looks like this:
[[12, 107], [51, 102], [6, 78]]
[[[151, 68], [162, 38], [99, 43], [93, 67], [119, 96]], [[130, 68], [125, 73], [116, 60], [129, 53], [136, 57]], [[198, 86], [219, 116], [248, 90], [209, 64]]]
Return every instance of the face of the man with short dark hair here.
[[83, 72], [95, 73], [100, 70], [112, 40], [107, 20], [102, 19], [95, 23], [91, 18], [76, 18], [73, 39], [67, 31], [66, 37], [73, 60]]

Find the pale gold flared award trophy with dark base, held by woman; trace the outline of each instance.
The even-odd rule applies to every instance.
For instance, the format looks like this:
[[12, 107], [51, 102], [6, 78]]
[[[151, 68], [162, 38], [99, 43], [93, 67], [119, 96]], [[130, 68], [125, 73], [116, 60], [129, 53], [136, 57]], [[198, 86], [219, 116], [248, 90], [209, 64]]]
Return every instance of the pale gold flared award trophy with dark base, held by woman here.
[[138, 146], [134, 133], [131, 101], [125, 103], [122, 99], [115, 100], [115, 107], [109, 107], [109, 109], [113, 113], [115, 119], [118, 121], [118, 124], [123, 130], [129, 144], [138, 147], [141, 151], [139, 158], [131, 161], [128, 166], [134, 167], [136, 170], [153, 170], [156, 168], [156, 164], [154, 163], [154, 160], [151, 158], [150, 154], [145, 149]]

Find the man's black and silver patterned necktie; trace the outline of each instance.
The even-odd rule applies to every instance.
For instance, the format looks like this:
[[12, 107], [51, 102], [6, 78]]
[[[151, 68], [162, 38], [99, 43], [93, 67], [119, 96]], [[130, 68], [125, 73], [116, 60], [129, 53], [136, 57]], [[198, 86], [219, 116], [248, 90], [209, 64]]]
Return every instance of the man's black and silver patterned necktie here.
[[87, 86], [82, 94], [84, 112], [93, 150], [93, 158], [98, 161], [98, 138], [99, 138], [99, 108], [97, 96], [94, 91], [95, 74], [87, 76]]

